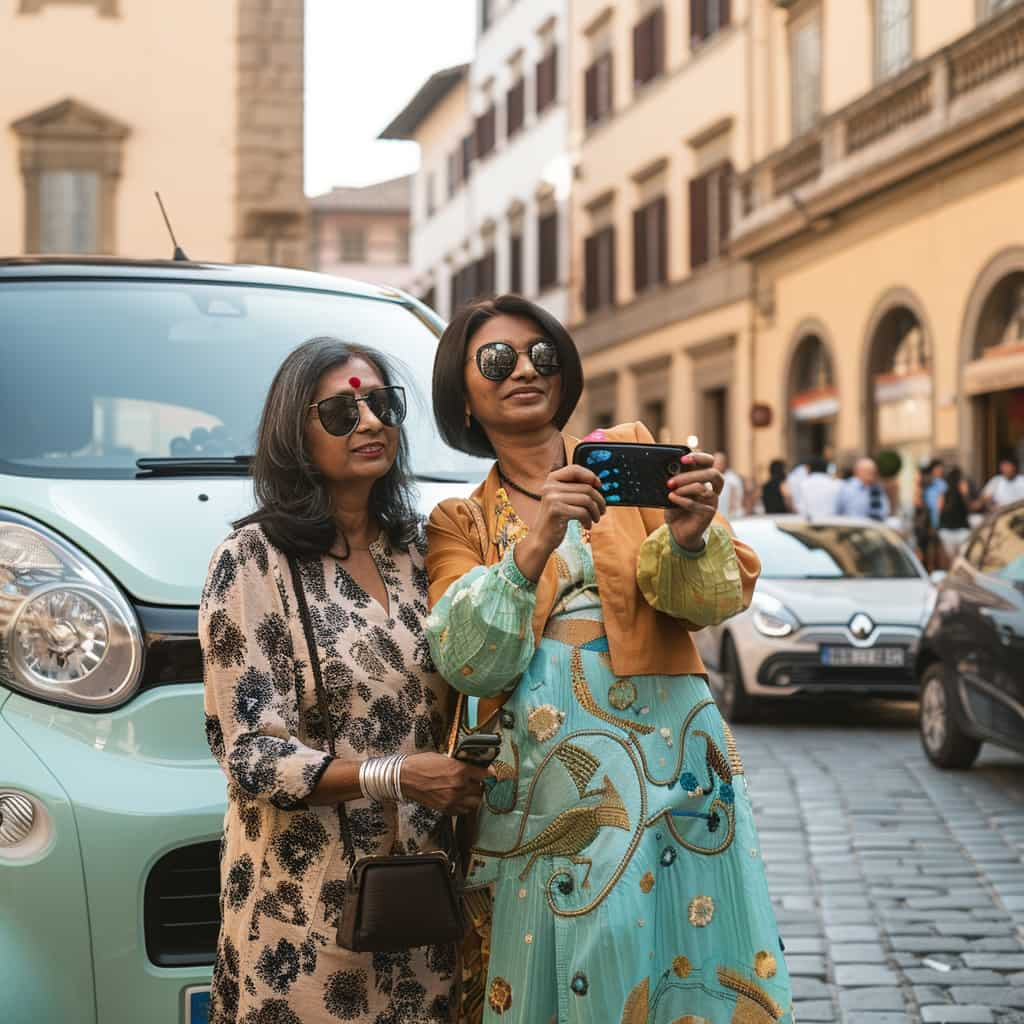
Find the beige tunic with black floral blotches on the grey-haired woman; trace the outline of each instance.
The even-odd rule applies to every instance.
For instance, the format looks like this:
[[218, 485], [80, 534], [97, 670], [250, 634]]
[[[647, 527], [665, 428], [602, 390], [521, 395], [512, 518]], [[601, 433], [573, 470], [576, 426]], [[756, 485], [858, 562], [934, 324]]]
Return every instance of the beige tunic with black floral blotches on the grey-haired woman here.
[[[382, 607], [333, 556], [299, 563], [337, 756], [434, 751], [449, 690], [430, 657], [423, 531], [372, 548]], [[285, 555], [257, 526], [217, 549], [200, 607], [210, 750], [227, 776], [211, 1024], [434, 1024], [454, 1012], [447, 947], [335, 943], [348, 864], [337, 808], [309, 807], [331, 761]], [[356, 856], [435, 848], [437, 813], [347, 804]]]

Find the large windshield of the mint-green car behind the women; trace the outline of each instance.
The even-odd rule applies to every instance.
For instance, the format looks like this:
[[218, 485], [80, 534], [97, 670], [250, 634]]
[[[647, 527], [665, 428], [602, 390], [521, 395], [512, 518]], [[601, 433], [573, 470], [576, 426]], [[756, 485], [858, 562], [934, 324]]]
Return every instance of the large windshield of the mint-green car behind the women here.
[[250, 455], [274, 373], [316, 335], [390, 356], [417, 474], [483, 476], [437, 434], [436, 337], [409, 307], [167, 279], [0, 285], [0, 472], [125, 477], [137, 459]]

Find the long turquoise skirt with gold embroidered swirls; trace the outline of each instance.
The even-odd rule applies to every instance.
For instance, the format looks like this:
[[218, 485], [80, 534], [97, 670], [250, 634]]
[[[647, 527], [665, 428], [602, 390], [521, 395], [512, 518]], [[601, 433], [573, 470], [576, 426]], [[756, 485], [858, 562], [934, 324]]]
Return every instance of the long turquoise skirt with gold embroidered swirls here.
[[600, 624], [549, 630], [500, 713], [469, 1001], [487, 1022], [793, 1024], [743, 766], [707, 683], [616, 678], [587, 638]]

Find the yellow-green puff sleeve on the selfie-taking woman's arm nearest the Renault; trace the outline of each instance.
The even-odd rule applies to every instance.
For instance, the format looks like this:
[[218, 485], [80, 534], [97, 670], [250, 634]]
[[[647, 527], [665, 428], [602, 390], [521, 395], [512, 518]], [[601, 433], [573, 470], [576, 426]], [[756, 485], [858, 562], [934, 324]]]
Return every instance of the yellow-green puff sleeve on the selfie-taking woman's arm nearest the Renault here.
[[694, 626], [717, 626], [743, 609], [743, 591], [732, 536], [715, 523], [697, 555], [676, 544], [668, 523], [640, 546], [637, 586], [647, 603]]

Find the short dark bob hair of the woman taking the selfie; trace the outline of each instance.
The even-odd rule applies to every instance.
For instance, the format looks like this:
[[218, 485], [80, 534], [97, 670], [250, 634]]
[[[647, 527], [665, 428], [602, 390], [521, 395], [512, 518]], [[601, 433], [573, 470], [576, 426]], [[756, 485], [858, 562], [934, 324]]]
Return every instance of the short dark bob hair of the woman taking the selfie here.
[[568, 331], [546, 309], [521, 295], [499, 295], [463, 306], [452, 317], [437, 343], [434, 356], [434, 418], [441, 437], [469, 455], [495, 458], [495, 450], [475, 419], [466, 426], [466, 352], [473, 335], [495, 316], [520, 316], [537, 325], [540, 334], [555, 343], [562, 364], [562, 400], [555, 412], [555, 426], [568, 423], [583, 393], [583, 366]]

